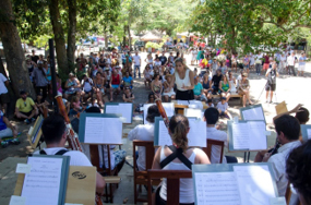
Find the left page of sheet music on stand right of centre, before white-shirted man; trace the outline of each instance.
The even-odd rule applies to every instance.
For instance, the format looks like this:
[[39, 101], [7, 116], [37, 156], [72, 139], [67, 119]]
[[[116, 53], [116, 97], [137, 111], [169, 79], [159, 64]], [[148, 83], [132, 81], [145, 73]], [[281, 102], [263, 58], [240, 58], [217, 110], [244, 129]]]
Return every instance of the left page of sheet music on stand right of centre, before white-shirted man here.
[[249, 124], [232, 123], [234, 149], [248, 149], [250, 145]]

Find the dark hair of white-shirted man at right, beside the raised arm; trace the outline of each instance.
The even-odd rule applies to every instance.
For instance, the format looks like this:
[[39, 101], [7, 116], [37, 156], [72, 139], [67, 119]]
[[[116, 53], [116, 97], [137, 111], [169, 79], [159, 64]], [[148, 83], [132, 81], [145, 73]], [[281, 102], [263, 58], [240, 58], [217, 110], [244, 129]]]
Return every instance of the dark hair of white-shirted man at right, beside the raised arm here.
[[274, 121], [277, 134], [284, 133], [285, 137], [289, 141], [299, 138], [300, 124], [296, 118], [289, 114], [284, 114]]

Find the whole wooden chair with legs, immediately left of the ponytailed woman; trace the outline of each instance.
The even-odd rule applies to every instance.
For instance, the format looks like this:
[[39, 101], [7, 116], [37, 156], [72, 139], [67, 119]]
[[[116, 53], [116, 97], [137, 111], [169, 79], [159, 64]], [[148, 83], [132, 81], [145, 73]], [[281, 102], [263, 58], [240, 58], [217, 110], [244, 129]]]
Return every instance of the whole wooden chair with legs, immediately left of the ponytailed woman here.
[[[145, 170], [139, 171], [136, 164], [136, 147], [145, 147]], [[134, 204], [137, 202], [147, 202], [146, 198], [140, 198], [139, 193], [142, 191], [142, 185], [147, 185], [147, 170], [152, 169], [153, 160], [155, 155], [154, 142], [153, 141], [133, 141], [133, 159], [134, 159]], [[139, 189], [137, 189], [139, 185]]]

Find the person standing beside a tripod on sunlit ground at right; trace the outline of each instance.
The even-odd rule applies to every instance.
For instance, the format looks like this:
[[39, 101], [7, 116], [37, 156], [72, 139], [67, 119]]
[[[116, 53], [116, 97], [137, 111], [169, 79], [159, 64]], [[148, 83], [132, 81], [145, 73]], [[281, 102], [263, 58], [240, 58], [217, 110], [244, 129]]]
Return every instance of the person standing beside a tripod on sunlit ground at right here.
[[265, 73], [265, 76], [267, 77], [267, 82], [265, 85], [265, 91], [266, 91], [265, 99], [266, 99], [266, 102], [268, 102], [268, 93], [270, 93], [271, 104], [272, 104], [272, 98], [273, 98], [273, 92], [275, 92], [275, 88], [276, 88], [276, 77], [278, 76], [278, 72], [276, 68], [277, 68], [277, 64], [276, 62], [274, 62], [272, 64], [272, 68], [268, 69]]

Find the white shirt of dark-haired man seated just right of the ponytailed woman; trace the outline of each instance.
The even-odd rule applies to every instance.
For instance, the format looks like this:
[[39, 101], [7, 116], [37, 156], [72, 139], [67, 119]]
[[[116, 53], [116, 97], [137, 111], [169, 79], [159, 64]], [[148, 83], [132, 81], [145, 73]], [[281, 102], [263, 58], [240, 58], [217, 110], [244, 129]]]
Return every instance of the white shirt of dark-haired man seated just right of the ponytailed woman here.
[[[206, 138], [223, 141], [225, 146], [228, 147], [227, 133], [216, 128], [206, 128]], [[211, 153], [211, 164], [219, 164], [219, 158], [222, 154], [220, 146], [213, 145]], [[223, 164], [227, 164], [225, 155], [223, 156]]]

